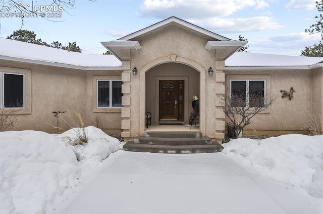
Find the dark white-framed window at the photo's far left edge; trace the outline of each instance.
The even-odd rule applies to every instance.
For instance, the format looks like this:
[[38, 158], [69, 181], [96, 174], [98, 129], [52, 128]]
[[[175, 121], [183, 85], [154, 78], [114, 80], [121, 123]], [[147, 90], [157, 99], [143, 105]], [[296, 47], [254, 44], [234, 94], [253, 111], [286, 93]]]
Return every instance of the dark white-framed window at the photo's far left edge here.
[[25, 74], [0, 72], [0, 108], [25, 108]]

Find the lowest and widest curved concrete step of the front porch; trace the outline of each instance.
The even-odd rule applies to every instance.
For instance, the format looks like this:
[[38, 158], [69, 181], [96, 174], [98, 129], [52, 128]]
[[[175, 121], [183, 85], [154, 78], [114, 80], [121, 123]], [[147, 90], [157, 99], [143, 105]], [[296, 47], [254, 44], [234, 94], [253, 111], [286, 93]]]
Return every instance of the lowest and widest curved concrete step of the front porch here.
[[218, 144], [203, 144], [203, 145], [154, 145], [140, 144], [128, 141], [123, 146], [125, 151], [132, 152], [151, 152], [151, 153], [169, 153], [169, 154], [186, 154], [186, 153], [211, 153], [221, 152], [223, 147]]

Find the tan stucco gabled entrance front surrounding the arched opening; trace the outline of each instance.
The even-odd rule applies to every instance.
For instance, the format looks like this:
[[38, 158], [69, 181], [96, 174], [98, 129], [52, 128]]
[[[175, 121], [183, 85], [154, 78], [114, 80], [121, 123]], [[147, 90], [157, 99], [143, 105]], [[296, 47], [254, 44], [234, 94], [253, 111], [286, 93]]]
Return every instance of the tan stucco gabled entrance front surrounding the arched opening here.
[[[224, 84], [221, 81], [216, 81], [215, 74], [212, 76], [206, 74], [210, 66], [219, 73], [224, 69], [224, 63], [219, 64], [216, 61], [216, 51], [205, 49], [207, 41], [214, 39], [176, 24], [168, 24], [132, 40], [139, 41], [141, 49], [131, 50], [129, 62], [123, 61], [125, 64], [129, 63], [129, 70], [125, 70], [125, 73], [131, 73], [135, 66], [138, 69], [138, 74], [136, 76], [129, 74], [129, 82], [123, 85], [125, 91], [129, 92], [124, 94], [124, 99], [131, 103], [125, 106], [130, 113], [123, 118], [123, 137], [133, 138], [143, 135], [146, 109], [143, 108], [142, 103], [147, 100], [146, 94], [148, 93], [145, 84], [147, 77], [152, 78], [149, 76], [150, 70], [157, 65], [176, 62], [187, 65], [199, 73], [200, 131], [202, 135], [222, 138], [224, 123], [219, 123], [217, 127], [214, 127], [217, 117], [216, 109], [218, 108], [214, 108], [217, 106], [214, 97], [216, 97], [216, 90], [224, 92]], [[147, 108], [150, 106], [148, 105]]]

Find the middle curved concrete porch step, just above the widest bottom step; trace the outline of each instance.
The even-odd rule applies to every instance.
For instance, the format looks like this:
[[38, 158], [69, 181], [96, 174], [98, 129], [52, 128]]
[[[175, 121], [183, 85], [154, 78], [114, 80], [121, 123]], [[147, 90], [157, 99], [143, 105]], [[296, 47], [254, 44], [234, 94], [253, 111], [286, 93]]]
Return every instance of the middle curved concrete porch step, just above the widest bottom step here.
[[212, 144], [212, 140], [207, 137], [199, 137], [199, 138], [136, 137], [133, 141], [134, 143], [137, 143], [137, 144], [153, 144], [153, 145], [169, 145], [169, 146]]

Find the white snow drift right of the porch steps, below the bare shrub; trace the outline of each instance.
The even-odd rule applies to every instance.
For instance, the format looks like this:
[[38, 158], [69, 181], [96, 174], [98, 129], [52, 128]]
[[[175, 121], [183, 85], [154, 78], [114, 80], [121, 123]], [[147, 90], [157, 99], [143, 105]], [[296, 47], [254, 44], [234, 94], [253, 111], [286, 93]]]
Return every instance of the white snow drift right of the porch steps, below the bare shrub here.
[[252, 166], [260, 175], [298, 185], [308, 194], [323, 198], [323, 136], [239, 138], [223, 146], [223, 153]]

